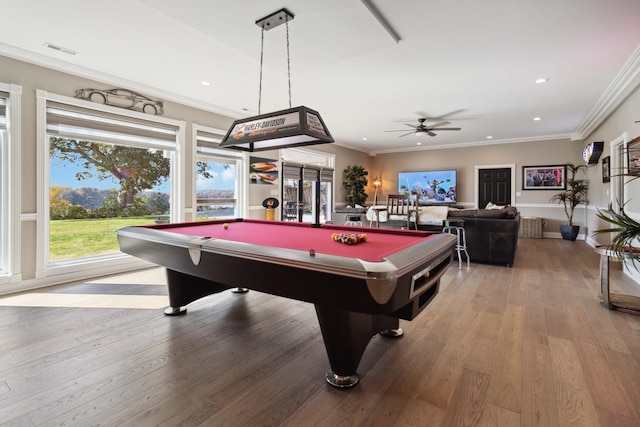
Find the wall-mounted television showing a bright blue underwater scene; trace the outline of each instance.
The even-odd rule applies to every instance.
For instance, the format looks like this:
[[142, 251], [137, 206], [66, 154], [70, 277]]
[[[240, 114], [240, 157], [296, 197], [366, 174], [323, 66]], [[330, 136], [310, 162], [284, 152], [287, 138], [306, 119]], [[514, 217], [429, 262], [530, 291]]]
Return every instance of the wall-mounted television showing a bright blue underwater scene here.
[[451, 204], [457, 201], [455, 169], [398, 172], [398, 192], [418, 195], [418, 203]]

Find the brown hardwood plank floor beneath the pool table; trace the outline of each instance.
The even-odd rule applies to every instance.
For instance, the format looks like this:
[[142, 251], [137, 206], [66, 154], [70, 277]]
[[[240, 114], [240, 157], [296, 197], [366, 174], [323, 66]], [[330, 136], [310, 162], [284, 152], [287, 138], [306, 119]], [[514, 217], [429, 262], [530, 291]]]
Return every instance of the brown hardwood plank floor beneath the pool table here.
[[[639, 426], [640, 316], [584, 242], [445, 274], [337, 390], [313, 305], [224, 292], [167, 317], [153, 269], [0, 298], [3, 426]], [[638, 286], [612, 272], [612, 287]]]

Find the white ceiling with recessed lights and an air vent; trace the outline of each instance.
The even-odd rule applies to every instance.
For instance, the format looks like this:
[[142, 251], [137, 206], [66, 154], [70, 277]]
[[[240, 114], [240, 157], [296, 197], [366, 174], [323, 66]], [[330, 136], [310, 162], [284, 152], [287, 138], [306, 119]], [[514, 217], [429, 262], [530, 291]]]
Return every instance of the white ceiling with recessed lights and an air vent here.
[[[0, 0], [0, 54], [238, 118], [258, 110], [255, 21], [286, 7], [293, 106], [372, 154], [580, 139], [640, 83], [640, 0], [371, 1], [399, 43], [361, 0]], [[285, 26], [264, 45], [262, 113], [289, 106]], [[385, 132], [422, 115], [462, 130]]]

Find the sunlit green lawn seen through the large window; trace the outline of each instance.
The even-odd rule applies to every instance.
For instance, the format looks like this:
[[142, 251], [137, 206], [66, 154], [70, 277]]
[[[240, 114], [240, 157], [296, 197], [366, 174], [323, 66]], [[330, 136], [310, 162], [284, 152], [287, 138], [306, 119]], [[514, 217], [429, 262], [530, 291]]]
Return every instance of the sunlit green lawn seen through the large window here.
[[51, 261], [117, 253], [116, 230], [130, 225], [153, 224], [153, 217], [68, 219], [50, 221]]

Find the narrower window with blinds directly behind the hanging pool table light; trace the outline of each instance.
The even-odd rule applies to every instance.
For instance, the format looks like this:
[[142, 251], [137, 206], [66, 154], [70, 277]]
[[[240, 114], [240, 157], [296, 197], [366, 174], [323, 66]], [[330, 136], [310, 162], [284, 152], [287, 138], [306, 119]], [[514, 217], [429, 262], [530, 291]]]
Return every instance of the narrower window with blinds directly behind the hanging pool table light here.
[[243, 215], [240, 194], [242, 153], [218, 148], [224, 131], [194, 125], [196, 137], [196, 219], [236, 218]]

